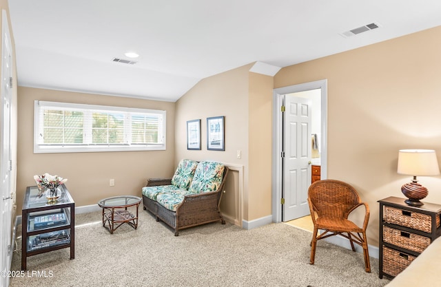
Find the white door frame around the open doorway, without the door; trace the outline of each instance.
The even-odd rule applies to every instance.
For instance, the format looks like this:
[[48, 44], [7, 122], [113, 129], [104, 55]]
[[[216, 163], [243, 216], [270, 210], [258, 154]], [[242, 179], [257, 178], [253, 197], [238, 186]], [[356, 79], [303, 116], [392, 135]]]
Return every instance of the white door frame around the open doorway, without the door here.
[[272, 128], [272, 174], [271, 174], [271, 202], [272, 202], [272, 221], [282, 221], [282, 198], [283, 188], [283, 114], [280, 109], [283, 102], [283, 95], [296, 92], [305, 92], [311, 89], [321, 89], [321, 138], [320, 138], [320, 177], [327, 178], [327, 79], [280, 87], [273, 90], [273, 128]]

